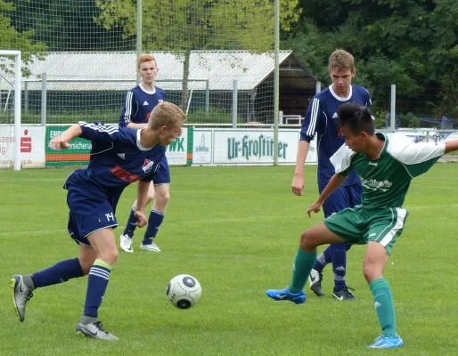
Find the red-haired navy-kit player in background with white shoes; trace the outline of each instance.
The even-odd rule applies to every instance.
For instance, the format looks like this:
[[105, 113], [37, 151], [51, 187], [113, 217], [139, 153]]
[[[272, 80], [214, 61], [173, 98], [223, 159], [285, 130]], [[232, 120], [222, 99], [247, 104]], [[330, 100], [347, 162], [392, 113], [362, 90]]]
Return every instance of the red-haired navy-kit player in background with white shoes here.
[[[151, 110], [159, 102], [166, 100], [164, 91], [154, 85], [154, 79], [159, 72], [154, 56], [151, 54], [140, 56], [137, 62], [137, 72], [142, 77], [142, 82], [127, 93], [124, 108], [122, 109], [121, 117], [119, 117], [119, 126], [143, 128], [148, 122]], [[143, 242], [140, 244], [140, 248], [145, 251], [160, 252], [159, 247], [153, 239], [156, 237], [159, 227], [164, 220], [168, 199], [170, 198], [169, 186], [170, 173], [167, 158], [164, 156], [154, 180], [151, 182], [150, 190], [148, 190], [146, 205], [150, 204], [153, 198], [156, 199], [151, 208]], [[126, 252], [134, 252], [132, 239], [134, 238], [137, 222], [135, 216], [136, 208], [137, 201], [135, 200], [127, 220], [126, 228], [119, 239], [119, 247]]]

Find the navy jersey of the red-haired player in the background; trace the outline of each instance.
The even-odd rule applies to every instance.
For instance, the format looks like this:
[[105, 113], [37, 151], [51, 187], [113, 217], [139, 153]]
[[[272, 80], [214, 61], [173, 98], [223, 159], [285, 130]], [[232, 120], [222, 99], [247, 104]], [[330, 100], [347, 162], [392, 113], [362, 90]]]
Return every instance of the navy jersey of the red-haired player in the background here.
[[161, 101], [166, 101], [166, 93], [157, 86], [153, 92], [145, 91], [141, 85], [135, 86], [127, 92], [124, 108], [119, 117], [119, 126], [125, 127], [130, 122], [146, 124], [152, 109]]

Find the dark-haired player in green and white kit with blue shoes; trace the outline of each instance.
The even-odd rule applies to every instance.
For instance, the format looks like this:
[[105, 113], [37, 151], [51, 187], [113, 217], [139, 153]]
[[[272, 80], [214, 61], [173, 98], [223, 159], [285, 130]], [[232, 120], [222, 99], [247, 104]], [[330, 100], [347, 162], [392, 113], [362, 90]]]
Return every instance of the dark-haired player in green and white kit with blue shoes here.
[[363, 183], [362, 204], [302, 232], [290, 287], [269, 289], [266, 294], [275, 301], [305, 303], [303, 288], [315, 263], [316, 247], [339, 242], [367, 244], [364, 277], [383, 330], [368, 348], [391, 349], [404, 343], [397, 335], [393, 296], [383, 270], [404, 229], [408, 215], [402, 207], [405, 194], [413, 177], [427, 172], [445, 153], [458, 150], [458, 141], [414, 143], [399, 134], [375, 134], [370, 110], [356, 103], [341, 105], [338, 116], [345, 145], [331, 157], [336, 174], [307, 214], [319, 212], [324, 200], [345, 182], [353, 168]]

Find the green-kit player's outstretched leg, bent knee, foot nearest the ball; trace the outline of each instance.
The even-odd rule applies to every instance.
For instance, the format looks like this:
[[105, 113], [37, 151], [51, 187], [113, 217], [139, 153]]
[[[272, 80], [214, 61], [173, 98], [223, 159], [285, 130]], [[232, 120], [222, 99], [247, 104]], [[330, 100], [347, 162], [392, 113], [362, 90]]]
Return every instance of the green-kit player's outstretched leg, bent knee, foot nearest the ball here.
[[269, 289], [266, 295], [275, 301], [290, 300], [297, 304], [305, 303], [306, 295], [303, 289], [315, 263], [316, 247], [343, 241], [345, 240], [330, 231], [324, 223], [319, 223], [314, 228], [302, 232], [299, 250], [293, 264], [290, 287]]

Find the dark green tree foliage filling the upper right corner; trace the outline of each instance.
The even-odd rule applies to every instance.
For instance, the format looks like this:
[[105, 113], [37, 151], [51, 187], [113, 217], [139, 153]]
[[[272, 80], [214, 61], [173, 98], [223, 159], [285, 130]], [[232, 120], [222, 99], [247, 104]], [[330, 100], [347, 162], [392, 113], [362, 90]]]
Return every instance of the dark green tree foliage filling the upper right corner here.
[[457, 1], [301, 0], [299, 7], [307, 11], [282, 47], [323, 83], [330, 82], [329, 55], [343, 48], [355, 56], [355, 83], [370, 90], [372, 101], [388, 101], [396, 84], [403, 101], [418, 102], [416, 115], [458, 115]]

